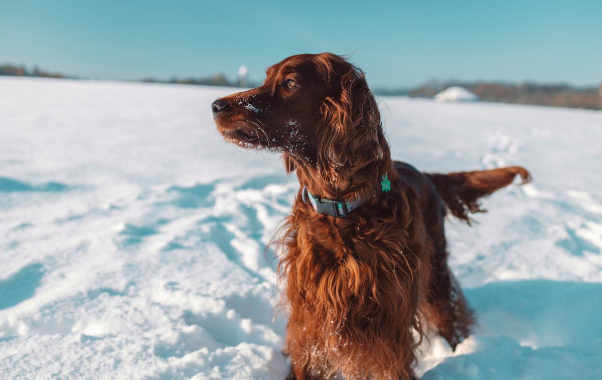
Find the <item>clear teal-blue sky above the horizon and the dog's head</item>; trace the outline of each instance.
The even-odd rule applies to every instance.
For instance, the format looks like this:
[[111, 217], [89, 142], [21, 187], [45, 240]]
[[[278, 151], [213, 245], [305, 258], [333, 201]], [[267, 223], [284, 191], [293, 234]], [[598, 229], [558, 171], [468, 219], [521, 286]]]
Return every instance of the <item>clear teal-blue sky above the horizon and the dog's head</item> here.
[[224, 73], [353, 53], [373, 86], [602, 83], [602, 0], [8, 1], [0, 63], [102, 79]]

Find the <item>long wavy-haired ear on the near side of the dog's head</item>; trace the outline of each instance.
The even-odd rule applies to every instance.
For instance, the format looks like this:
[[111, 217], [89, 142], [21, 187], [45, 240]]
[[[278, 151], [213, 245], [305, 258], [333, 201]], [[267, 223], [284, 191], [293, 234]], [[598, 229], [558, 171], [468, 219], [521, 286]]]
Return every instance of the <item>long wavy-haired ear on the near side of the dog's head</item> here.
[[326, 97], [318, 122], [318, 170], [337, 188], [349, 185], [350, 176], [382, 159], [379, 144], [380, 114], [364, 73], [349, 63], [340, 76], [338, 96]]

